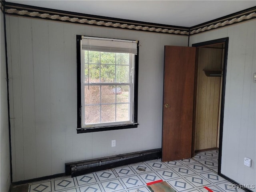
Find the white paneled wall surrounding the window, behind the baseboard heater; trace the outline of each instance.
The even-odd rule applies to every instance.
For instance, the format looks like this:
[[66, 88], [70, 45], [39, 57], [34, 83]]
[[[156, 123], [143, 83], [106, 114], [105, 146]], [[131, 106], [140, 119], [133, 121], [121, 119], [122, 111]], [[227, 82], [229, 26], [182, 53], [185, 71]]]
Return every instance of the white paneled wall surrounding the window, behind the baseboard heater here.
[[[64, 163], [161, 148], [164, 45], [186, 36], [6, 16], [13, 181]], [[139, 40], [138, 128], [76, 133], [76, 35]], [[116, 147], [111, 147], [111, 140]]]

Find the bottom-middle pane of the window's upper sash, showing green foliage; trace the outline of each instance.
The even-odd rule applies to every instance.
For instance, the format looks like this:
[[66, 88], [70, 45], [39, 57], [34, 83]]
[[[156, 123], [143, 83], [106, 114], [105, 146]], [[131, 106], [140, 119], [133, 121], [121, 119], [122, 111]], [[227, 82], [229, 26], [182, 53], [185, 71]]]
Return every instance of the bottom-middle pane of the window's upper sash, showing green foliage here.
[[115, 82], [115, 65], [101, 64], [100, 80], [101, 82]]

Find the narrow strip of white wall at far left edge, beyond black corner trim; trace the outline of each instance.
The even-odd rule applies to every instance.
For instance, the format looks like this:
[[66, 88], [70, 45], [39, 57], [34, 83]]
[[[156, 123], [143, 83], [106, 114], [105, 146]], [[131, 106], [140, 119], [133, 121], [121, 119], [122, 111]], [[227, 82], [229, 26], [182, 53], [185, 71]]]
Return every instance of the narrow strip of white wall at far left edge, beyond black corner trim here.
[[8, 102], [6, 82], [6, 54], [4, 41], [4, 14], [1, 10], [1, 60], [0, 60], [0, 191], [9, 190], [11, 183], [10, 171], [10, 143], [8, 124]]

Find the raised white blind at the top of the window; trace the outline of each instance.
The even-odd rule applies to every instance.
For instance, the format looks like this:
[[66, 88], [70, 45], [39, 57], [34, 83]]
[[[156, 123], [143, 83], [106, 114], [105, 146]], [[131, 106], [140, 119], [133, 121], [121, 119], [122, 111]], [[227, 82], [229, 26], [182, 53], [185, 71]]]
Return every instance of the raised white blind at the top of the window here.
[[82, 38], [82, 50], [137, 54], [137, 42], [105, 38]]

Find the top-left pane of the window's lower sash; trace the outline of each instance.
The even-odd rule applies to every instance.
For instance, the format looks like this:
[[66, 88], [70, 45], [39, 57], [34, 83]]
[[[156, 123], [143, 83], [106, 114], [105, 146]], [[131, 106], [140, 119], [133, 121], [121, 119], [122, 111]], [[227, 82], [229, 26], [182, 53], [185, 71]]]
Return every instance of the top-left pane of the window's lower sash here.
[[100, 86], [84, 86], [84, 104], [100, 104]]

